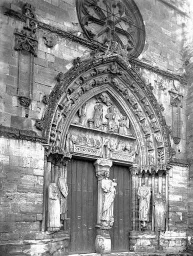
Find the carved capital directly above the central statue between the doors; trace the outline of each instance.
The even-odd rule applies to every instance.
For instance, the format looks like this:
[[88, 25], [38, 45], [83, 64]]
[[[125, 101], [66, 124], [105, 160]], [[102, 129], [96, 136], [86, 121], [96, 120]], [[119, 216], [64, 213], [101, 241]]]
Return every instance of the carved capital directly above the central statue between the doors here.
[[105, 171], [110, 170], [110, 167], [112, 166], [112, 161], [105, 159], [105, 158], [98, 158], [94, 162], [95, 171], [96, 171], [96, 177], [98, 180], [102, 179], [104, 177]]

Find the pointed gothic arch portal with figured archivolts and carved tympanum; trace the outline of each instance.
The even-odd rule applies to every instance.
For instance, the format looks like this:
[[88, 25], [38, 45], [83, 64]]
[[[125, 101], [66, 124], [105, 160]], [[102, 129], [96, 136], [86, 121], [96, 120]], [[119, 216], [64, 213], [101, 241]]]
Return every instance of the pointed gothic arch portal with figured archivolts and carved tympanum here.
[[[95, 160], [96, 238], [102, 237], [102, 232], [107, 235], [105, 230], [109, 231], [113, 223], [101, 221], [101, 179], [112, 164], [127, 166], [132, 176], [129, 229], [140, 229], [136, 191], [143, 181], [151, 186], [152, 195], [156, 190], [162, 191], [167, 199], [164, 187], [167, 187], [170, 142], [161, 106], [151, 85], [145, 84], [120, 55], [95, 54], [91, 59], [76, 62], [67, 73], [59, 73], [43, 121], [44, 136], [52, 151]], [[53, 172], [51, 176], [56, 180], [59, 172], [54, 168]], [[149, 222], [149, 228], [154, 230], [152, 215]], [[97, 239], [96, 251], [99, 251]], [[109, 248], [105, 252], [109, 252]]]

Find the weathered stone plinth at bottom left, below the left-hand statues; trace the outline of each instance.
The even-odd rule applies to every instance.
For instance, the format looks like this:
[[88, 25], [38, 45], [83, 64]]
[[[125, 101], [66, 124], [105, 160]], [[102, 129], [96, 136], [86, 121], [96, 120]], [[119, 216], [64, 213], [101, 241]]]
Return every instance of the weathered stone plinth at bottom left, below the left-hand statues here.
[[58, 232], [36, 232], [41, 239], [0, 241], [0, 255], [12, 256], [64, 256], [68, 254], [69, 234], [64, 230]]

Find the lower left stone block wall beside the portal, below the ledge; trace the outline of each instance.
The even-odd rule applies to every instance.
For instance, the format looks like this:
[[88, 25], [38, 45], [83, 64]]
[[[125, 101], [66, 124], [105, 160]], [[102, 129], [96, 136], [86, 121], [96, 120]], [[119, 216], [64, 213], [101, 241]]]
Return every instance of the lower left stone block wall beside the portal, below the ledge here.
[[0, 138], [0, 243], [39, 238], [43, 163], [40, 143]]

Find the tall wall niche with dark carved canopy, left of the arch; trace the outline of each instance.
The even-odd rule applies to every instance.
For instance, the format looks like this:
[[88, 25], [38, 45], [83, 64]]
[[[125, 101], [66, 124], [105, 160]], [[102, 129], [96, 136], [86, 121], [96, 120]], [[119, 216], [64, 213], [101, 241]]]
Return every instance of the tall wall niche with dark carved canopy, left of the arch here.
[[21, 31], [18, 28], [14, 31], [14, 49], [18, 51], [17, 95], [20, 105], [28, 107], [32, 97], [33, 64], [37, 52], [37, 20], [34, 8], [29, 3], [24, 4], [22, 14], [25, 24]]

